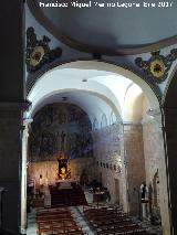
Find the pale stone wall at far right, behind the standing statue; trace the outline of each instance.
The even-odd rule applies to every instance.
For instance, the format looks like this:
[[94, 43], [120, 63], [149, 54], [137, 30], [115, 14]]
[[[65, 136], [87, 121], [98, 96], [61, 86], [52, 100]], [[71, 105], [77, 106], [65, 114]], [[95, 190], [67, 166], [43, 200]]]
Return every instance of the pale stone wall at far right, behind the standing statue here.
[[146, 120], [143, 124], [146, 183], [152, 186], [152, 212], [162, 217], [163, 234], [168, 235], [169, 207], [165, 163], [164, 138], [159, 120]]

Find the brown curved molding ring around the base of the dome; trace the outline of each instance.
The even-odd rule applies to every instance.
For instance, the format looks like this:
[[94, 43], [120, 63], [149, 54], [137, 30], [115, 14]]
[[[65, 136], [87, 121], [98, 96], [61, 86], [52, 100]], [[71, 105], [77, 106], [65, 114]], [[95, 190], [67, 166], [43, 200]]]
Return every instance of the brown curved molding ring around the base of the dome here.
[[27, 0], [28, 7], [37, 21], [43, 25], [53, 36], [55, 36], [62, 43], [82, 52], [92, 53], [92, 54], [104, 54], [104, 55], [129, 55], [129, 54], [142, 54], [150, 51], [157, 51], [162, 47], [166, 47], [177, 43], [177, 35], [160, 40], [149, 44], [143, 45], [128, 45], [126, 47], [121, 49], [108, 49], [108, 47], [100, 47], [100, 46], [91, 46], [84, 44], [77, 40], [74, 40], [70, 36], [62, 34], [59, 29], [44, 15], [42, 9], [34, 0]]

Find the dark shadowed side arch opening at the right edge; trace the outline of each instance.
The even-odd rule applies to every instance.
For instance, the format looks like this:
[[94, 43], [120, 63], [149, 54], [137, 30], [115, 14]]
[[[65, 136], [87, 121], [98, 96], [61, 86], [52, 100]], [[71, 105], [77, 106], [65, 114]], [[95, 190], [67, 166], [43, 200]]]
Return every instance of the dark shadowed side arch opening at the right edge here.
[[170, 78], [170, 83], [166, 89], [164, 96], [163, 111], [164, 111], [164, 135], [166, 138], [166, 152], [167, 152], [167, 173], [168, 173], [168, 184], [170, 193], [169, 206], [171, 210], [171, 234], [177, 233], [177, 171], [176, 171], [176, 152], [177, 152], [177, 71], [175, 68]]

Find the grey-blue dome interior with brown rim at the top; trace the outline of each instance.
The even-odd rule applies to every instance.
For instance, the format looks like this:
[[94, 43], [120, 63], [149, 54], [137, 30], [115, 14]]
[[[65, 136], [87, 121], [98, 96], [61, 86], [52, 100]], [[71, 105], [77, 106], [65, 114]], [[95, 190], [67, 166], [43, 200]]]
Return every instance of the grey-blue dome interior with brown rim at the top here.
[[[158, 8], [40, 8], [49, 0], [29, 0], [29, 7], [41, 24], [55, 38], [81, 51], [102, 54], [133, 54], [148, 52], [177, 42], [177, 2], [173, 7]], [[61, 2], [51, 0], [50, 3]], [[62, 1], [63, 2], [63, 1]], [[71, 4], [71, 1], [64, 2]], [[81, 2], [81, 1], [77, 1]], [[83, 1], [82, 1], [83, 2]], [[84, 1], [86, 2], [86, 1]], [[110, 3], [117, 1], [111, 0]], [[131, 3], [131, 2], [129, 2]]]

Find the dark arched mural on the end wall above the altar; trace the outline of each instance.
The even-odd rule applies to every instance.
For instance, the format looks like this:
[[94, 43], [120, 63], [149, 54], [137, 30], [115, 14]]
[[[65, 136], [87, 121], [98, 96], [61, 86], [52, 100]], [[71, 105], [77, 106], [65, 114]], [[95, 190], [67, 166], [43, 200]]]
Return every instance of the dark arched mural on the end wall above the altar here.
[[93, 157], [92, 125], [77, 106], [48, 105], [33, 118], [29, 139], [31, 161]]

